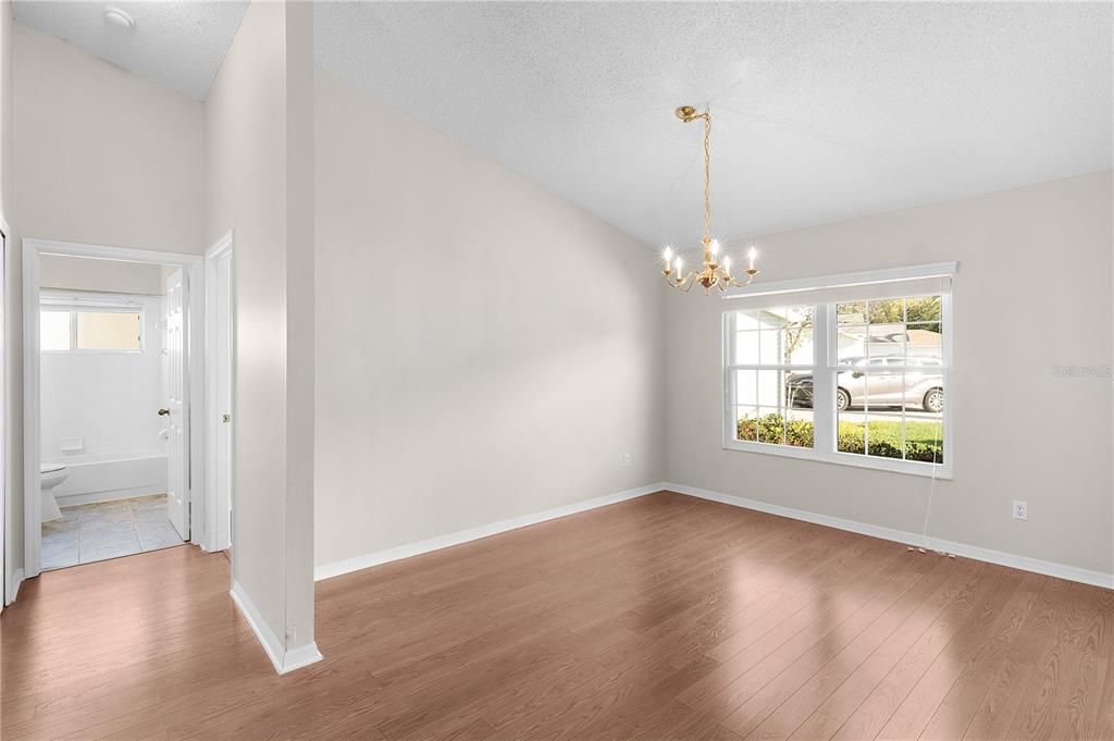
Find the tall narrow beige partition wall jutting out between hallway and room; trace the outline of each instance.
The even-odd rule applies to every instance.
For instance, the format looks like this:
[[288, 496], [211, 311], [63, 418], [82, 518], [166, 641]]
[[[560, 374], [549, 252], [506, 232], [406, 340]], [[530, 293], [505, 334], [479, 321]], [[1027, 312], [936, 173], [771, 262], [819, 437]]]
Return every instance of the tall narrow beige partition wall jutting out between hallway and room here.
[[306, 45], [311, 6], [253, 2], [205, 106], [206, 241], [235, 230], [233, 578], [285, 650], [313, 641], [313, 493], [303, 484], [313, 470], [313, 426], [303, 419], [313, 393], [312, 337], [302, 330], [313, 321]]

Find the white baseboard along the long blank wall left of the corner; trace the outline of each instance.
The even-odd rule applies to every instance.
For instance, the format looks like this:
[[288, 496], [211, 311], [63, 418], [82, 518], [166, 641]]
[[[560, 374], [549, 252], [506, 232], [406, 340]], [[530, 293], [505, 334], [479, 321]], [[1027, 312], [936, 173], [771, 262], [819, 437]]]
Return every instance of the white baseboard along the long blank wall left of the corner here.
[[418, 556], [431, 550], [440, 550], [441, 548], [460, 545], [462, 543], [468, 543], [469, 540], [478, 540], [480, 538], [498, 535], [499, 533], [516, 530], [520, 527], [526, 527], [527, 525], [537, 525], [538, 523], [557, 519], [558, 517], [567, 517], [568, 515], [596, 509], [597, 507], [606, 507], [607, 505], [614, 505], [619, 501], [626, 501], [627, 499], [634, 499], [636, 497], [646, 496], [647, 494], [654, 494], [655, 491], [661, 491], [664, 488], [666, 488], [665, 484], [651, 484], [648, 486], [641, 486], [637, 489], [627, 489], [626, 491], [618, 491], [617, 494], [608, 494], [603, 497], [596, 497], [595, 499], [586, 499], [584, 501], [577, 501], [576, 504], [566, 505], [564, 507], [546, 509], [545, 511], [535, 513], [532, 515], [524, 515], [521, 517], [515, 517], [514, 519], [504, 519], [498, 523], [491, 523], [490, 525], [481, 525], [469, 530], [459, 530], [457, 533], [441, 535], [428, 540], [419, 540], [418, 543], [409, 543], [407, 545], [388, 548], [385, 550], [377, 550], [362, 556], [355, 556], [354, 558], [346, 558], [332, 564], [325, 564], [324, 566], [317, 566], [313, 569], [313, 578], [314, 581], [320, 582], [322, 579], [332, 578], [342, 574], [358, 572], [361, 568], [370, 568], [371, 566], [379, 566], [380, 564], [387, 564], [392, 560], [410, 558], [411, 556]]

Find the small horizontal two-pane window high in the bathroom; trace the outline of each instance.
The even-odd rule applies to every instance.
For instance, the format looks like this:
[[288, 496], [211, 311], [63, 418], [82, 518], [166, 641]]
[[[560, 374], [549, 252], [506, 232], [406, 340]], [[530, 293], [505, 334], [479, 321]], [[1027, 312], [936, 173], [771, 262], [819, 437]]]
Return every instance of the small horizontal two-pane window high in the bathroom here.
[[43, 305], [39, 328], [43, 352], [143, 351], [143, 310], [135, 306]]

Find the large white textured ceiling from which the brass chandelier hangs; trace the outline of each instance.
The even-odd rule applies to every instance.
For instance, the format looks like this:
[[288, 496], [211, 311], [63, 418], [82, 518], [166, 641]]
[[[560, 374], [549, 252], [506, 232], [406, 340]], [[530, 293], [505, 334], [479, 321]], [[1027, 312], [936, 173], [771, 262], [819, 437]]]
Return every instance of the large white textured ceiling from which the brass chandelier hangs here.
[[[316, 62], [651, 244], [1111, 167], [1108, 3], [331, 3]], [[373, 136], [373, 134], [369, 134]]]

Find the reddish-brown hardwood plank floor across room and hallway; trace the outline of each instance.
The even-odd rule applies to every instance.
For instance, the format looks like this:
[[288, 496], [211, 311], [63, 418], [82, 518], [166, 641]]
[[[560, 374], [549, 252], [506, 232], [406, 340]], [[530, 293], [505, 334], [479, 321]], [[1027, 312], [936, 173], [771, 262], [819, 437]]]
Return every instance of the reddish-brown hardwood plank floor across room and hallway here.
[[276, 676], [179, 547], [0, 620], [0, 737], [1114, 739], [1114, 592], [675, 494], [317, 584]]

